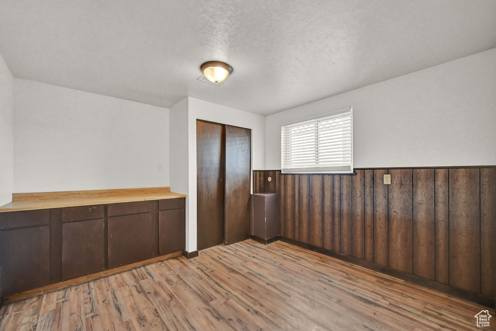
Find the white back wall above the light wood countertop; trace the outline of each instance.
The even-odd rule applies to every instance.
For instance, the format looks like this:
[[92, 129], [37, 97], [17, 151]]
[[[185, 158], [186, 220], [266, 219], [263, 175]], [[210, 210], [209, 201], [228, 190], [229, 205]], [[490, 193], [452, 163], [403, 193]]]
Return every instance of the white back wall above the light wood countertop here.
[[168, 186], [168, 130], [165, 108], [14, 79], [14, 192]]

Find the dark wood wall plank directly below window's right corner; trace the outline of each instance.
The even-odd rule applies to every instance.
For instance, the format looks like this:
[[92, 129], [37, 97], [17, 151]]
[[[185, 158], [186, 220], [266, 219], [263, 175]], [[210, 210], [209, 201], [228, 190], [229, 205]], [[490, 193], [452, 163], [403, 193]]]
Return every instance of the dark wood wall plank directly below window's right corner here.
[[341, 175], [341, 253], [353, 255], [352, 176]]

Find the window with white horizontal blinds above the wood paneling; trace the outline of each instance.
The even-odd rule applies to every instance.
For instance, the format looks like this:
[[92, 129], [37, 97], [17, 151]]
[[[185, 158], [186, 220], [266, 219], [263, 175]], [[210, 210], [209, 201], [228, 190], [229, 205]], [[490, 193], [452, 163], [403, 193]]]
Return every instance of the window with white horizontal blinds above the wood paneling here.
[[281, 128], [282, 172], [353, 172], [353, 111]]

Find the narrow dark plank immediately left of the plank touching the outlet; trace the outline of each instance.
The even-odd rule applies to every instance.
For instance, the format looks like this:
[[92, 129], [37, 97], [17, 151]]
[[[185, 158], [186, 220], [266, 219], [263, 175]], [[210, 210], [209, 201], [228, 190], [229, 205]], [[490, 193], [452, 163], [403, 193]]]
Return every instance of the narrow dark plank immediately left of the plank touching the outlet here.
[[365, 260], [373, 262], [373, 170], [365, 170], [365, 195], [364, 195], [364, 219], [365, 219]]

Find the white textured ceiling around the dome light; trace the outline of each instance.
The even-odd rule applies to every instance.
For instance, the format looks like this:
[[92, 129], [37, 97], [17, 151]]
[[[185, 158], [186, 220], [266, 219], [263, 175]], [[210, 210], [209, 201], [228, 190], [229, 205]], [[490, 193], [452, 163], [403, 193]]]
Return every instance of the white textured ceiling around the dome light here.
[[[270, 114], [496, 47], [495, 0], [0, 0], [12, 74]], [[199, 65], [222, 60], [220, 87]]]

